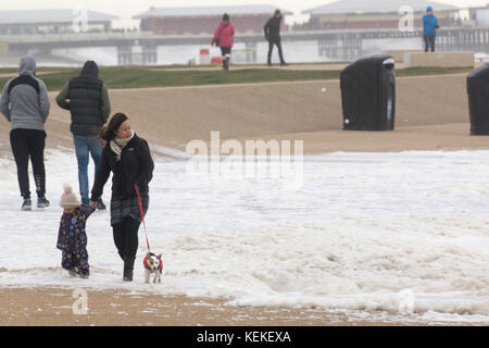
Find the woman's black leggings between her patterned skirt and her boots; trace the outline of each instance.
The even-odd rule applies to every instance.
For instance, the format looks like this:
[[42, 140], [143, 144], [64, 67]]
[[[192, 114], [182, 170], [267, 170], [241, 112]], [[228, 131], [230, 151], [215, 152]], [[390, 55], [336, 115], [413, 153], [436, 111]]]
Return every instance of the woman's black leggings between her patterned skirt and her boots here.
[[124, 220], [112, 226], [115, 247], [124, 260], [125, 257], [129, 259], [136, 258], [138, 250], [138, 231], [141, 223], [133, 217], [126, 216]]

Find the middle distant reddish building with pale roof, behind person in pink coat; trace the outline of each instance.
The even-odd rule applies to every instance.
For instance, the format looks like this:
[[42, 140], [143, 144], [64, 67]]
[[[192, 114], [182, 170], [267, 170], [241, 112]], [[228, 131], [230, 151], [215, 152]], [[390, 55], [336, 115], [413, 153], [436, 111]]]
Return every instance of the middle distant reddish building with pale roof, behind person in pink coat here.
[[[227, 13], [236, 33], [262, 33], [275, 10], [277, 8], [272, 5], [152, 8], [133, 18], [141, 20], [141, 32], [155, 35], [205, 35], [213, 34], [223, 14]], [[280, 11], [284, 15], [292, 14], [287, 10]]]

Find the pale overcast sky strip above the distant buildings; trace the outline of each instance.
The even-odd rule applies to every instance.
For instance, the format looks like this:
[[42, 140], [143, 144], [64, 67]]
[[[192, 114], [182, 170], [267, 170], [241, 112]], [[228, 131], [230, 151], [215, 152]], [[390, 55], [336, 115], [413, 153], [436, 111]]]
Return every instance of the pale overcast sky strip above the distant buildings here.
[[[336, 0], [1, 0], [0, 10], [40, 10], [71, 9], [85, 7], [89, 10], [105, 12], [121, 17], [122, 25], [134, 24], [130, 17], [148, 11], [151, 7], [210, 7], [239, 4], [271, 4], [300, 13], [303, 10], [319, 7]], [[368, 0], [365, 0], [368, 1]], [[388, 2], [389, 0], [386, 0]], [[486, 5], [489, 0], [439, 0], [459, 7]], [[410, 0], [405, 0], [409, 4]], [[117, 26], [117, 23], [115, 24]]]

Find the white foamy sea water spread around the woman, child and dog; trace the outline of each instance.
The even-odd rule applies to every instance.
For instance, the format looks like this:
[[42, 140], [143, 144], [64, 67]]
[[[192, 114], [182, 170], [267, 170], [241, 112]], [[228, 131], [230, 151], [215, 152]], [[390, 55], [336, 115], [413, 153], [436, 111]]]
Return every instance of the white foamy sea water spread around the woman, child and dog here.
[[142, 226], [135, 282], [122, 282], [109, 212], [88, 220], [90, 278], [61, 269], [58, 201], [63, 183], [77, 190], [73, 151], [46, 152], [52, 204], [32, 212], [20, 211], [12, 158], [0, 159], [0, 286], [125, 288], [489, 324], [489, 151], [304, 156], [289, 177], [196, 172], [187, 158], [155, 157], [146, 223], [152, 251], [163, 253], [156, 285], [143, 283]]

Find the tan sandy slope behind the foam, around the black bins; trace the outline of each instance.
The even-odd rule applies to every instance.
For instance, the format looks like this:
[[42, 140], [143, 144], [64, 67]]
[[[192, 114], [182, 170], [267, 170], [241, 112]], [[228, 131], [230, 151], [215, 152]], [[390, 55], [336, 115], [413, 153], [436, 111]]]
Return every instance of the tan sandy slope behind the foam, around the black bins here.
[[[47, 146], [73, 148], [70, 114], [55, 95]], [[110, 97], [113, 113], [126, 113], [136, 133], [181, 151], [190, 140], [210, 141], [213, 130], [222, 140], [301, 139], [305, 153], [489, 148], [489, 137], [468, 136], [465, 75], [398, 78], [394, 132], [341, 130], [338, 80], [113, 89]]]

